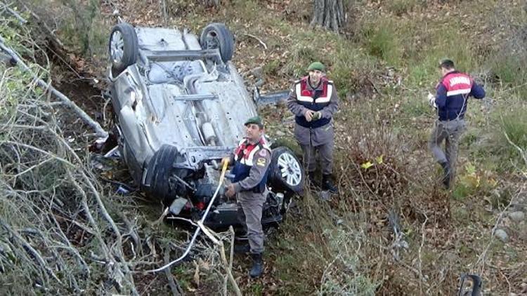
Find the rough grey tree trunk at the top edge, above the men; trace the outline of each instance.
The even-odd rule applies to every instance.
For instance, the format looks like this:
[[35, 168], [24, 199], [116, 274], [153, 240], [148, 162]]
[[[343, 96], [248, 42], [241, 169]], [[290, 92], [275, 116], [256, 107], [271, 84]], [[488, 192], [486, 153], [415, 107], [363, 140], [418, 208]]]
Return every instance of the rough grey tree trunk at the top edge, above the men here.
[[321, 26], [339, 32], [346, 15], [342, 0], [313, 0], [313, 20], [311, 26]]

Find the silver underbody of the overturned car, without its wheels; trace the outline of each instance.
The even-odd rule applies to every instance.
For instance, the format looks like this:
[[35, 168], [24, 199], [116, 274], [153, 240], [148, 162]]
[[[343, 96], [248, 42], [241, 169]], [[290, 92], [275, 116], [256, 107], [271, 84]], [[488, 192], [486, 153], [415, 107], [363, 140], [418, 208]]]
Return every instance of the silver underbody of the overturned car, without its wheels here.
[[115, 77], [108, 73], [134, 179], [141, 171], [144, 179], [143, 168], [163, 144], [185, 155], [190, 169], [232, 152], [245, 135], [242, 123], [256, 116], [233, 64], [223, 63], [218, 49], [202, 50], [189, 32], [135, 30], [137, 62]]

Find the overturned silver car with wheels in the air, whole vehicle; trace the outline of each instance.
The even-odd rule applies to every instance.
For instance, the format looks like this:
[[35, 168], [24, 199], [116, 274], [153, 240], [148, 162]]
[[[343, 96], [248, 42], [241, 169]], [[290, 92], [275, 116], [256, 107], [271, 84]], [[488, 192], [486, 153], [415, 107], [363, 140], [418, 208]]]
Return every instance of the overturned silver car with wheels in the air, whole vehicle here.
[[[200, 37], [178, 29], [132, 27], [110, 34], [108, 80], [119, 152], [134, 182], [175, 215], [199, 219], [219, 182], [218, 163], [256, 116], [254, 97], [230, 62], [233, 34], [220, 23]], [[286, 147], [272, 151], [263, 224], [280, 222], [304, 171]], [[205, 224], [237, 224], [237, 206], [214, 201]]]

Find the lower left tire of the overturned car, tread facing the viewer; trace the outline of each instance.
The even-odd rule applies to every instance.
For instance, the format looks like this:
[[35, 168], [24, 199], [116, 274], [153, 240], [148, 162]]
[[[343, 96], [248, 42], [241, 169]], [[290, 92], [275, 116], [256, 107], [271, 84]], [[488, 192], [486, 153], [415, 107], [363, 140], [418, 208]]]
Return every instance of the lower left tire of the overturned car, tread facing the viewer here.
[[174, 161], [178, 161], [178, 149], [164, 144], [148, 163], [148, 180], [150, 180], [149, 194], [155, 199], [169, 203], [173, 194], [169, 177], [174, 170]]

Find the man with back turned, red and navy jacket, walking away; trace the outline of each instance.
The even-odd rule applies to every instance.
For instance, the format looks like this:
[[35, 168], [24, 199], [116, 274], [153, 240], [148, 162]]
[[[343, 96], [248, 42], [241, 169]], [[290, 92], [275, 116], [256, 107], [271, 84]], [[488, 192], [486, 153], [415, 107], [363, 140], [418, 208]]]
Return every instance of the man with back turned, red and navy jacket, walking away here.
[[[430, 105], [438, 111], [434, 130], [429, 140], [429, 148], [434, 159], [443, 167], [443, 184], [448, 189], [455, 173], [457, 147], [464, 131], [464, 114], [470, 96], [476, 99], [485, 97], [485, 90], [469, 76], [456, 71], [452, 60], [439, 62], [443, 78], [436, 86], [436, 95], [429, 94]], [[445, 142], [445, 150], [441, 144]]]

